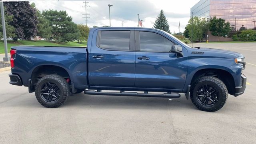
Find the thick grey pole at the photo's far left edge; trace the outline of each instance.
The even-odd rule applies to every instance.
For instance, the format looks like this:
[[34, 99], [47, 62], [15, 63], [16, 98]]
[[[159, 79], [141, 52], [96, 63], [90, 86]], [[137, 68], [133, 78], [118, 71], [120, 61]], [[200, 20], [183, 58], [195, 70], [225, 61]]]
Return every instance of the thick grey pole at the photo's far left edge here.
[[8, 52], [7, 52], [6, 29], [5, 29], [5, 20], [4, 20], [4, 2], [2, 2], [2, 0], [0, 1], [0, 8], [1, 8], [2, 26], [3, 26], [3, 35], [4, 35], [4, 52], [5, 52], [4, 62], [8, 62], [10, 61], [10, 57], [8, 57]]

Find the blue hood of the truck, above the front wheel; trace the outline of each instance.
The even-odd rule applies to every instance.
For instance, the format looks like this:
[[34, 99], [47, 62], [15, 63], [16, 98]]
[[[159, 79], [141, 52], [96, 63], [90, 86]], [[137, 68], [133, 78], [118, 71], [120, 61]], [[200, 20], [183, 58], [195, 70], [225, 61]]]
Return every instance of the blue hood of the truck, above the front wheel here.
[[200, 52], [204, 52], [204, 54], [206, 55], [218, 54], [218, 55], [226, 56], [230, 58], [244, 58], [242, 54], [238, 52], [230, 51], [230, 50], [221, 50], [216, 48], [200, 48], [196, 50], [199, 50]]

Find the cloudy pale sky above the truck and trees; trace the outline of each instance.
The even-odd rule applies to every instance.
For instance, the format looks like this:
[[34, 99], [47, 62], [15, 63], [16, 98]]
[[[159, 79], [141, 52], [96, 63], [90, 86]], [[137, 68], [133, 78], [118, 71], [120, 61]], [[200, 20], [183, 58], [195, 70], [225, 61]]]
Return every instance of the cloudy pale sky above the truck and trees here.
[[[109, 7], [110, 7], [111, 26], [135, 27], [138, 25], [138, 15], [142, 19], [143, 27], [152, 28], [160, 10], [164, 10], [170, 32], [184, 31], [190, 18], [190, 8], [199, 0], [87, 0], [90, 14], [87, 20], [89, 27], [109, 26]], [[31, 0], [36, 4], [38, 10], [66, 10], [72, 16], [76, 24], [85, 24], [85, 8], [82, 0]]]

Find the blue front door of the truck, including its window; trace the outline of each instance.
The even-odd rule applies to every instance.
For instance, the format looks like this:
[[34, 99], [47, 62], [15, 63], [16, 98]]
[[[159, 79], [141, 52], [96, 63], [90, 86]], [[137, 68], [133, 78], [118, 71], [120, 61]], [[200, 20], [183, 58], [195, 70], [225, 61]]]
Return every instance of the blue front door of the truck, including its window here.
[[175, 44], [159, 31], [135, 31], [135, 86], [182, 90], [188, 68], [187, 52], [177, 58]]

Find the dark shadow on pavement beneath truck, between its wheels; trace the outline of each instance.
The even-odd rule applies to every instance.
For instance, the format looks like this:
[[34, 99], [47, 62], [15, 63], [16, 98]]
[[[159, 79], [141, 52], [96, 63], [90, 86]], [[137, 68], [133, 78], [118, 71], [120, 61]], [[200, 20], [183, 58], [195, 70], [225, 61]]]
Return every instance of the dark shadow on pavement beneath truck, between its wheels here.
[[[171, 100], [170, 100], [171, 99]], [[120, 109], [196, 109], [182, 94], [180, 98], [152, 98], [129, 96], [96, 96], [83, 93], [68, 98], [64, 107], [120, 108]]]

